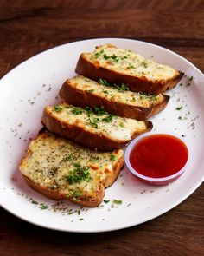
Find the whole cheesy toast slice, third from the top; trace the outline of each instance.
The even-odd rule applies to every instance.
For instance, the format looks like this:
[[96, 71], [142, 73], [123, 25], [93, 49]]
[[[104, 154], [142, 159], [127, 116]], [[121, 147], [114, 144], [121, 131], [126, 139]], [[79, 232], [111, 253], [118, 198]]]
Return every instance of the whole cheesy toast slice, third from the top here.
[[150, 121], [122, 118], [108, 114], [103, 108], [80, 108], [66, 103], [45, 107], [42, 124], [57, 135], [102, 151], [122, 148], [152, 128]]

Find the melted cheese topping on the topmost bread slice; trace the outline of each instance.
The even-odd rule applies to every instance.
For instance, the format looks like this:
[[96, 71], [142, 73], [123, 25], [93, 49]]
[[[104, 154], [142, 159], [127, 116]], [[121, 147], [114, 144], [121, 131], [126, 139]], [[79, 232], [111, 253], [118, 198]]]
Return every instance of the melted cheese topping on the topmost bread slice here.
[[154, 82], [170, 80], [179, 75], [177, 70], [167, 65], [145, 59], [130, 49], [119, 49], [110, 44], [99, 46], [93, 53], [86, 53], [84, 56], [96, 66], [116, 71], [119, 74], [145, 77]]

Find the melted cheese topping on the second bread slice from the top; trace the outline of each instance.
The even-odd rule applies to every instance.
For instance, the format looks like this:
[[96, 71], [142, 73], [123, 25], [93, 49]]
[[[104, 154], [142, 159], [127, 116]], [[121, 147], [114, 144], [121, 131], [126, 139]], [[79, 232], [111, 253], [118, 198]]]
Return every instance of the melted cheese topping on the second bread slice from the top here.
[[135, 107], [149, 108], [153, 104], [163, 102], [163, 95], [145, 95], [142, 93], [132, 92], [130, 90], [118, 90], [113, 86], [105, 86], [95, 82], [83, 75], [77, 75], [68, 82], [76, 89], [87, 91], [99, 98], [105, 98], [111, 102], [121, 102]]

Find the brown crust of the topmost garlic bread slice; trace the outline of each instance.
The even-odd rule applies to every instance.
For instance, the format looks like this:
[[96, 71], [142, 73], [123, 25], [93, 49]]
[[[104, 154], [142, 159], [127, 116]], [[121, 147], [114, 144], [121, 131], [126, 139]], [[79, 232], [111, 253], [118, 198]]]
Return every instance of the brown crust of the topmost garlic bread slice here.
[[184, 75], [184, 73], [178, 71], [179, 75], [173, 79], [153, 82], [147, 80], [144, 76], [138, 78], [136, 76], [124, 75], [114, 70], [102, 68], [97, 64], [92, 64], [92, 62], [87, 60], [86, 55], [83, 53], [80, 55], [80, 59], [77, 62], [75, 72], [95, 81], [102, 78], [106, 79], [108, 82], [124, 83], [129, 86], [131, 91], [146, 92], [155, 95], [174, 88]]

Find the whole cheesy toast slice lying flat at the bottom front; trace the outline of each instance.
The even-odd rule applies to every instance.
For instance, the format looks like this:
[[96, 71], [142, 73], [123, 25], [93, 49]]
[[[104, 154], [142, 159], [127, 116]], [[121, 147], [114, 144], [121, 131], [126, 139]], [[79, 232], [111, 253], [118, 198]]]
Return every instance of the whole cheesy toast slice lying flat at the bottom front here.
[[43, 131], [19, 168], [29, 186], [48, 198], [98, 207], [123, 166], [121, 149], [99, 153]]

